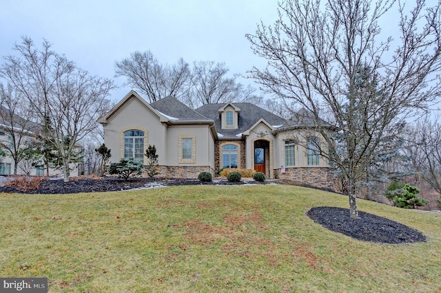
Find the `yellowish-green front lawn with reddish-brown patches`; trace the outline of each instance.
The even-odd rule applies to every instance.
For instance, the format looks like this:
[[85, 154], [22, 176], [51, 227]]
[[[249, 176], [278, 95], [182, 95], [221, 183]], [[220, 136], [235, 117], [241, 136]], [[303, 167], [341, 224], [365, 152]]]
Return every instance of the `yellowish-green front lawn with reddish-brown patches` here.
[[50, 292], [440, 292], [441, 215], [358, 200], [427, 242], [386, 245], [305, 212], [348, 199], [296, 186], [0, 193], [0, 276]]

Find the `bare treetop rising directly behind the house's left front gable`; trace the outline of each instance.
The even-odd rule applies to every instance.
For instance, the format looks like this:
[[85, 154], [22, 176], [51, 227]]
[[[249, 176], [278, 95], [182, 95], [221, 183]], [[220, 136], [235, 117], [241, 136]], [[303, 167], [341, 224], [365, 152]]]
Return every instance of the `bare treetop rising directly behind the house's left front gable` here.
[[115, 63], [116, 76], [125, 76], [126, 85], [139, 89], [149, 102], [174, 96], [181, 98], [189, 81], [189, 65], [180, 58], [174, 65], [161, 65], [152, 52], [133, 52]]

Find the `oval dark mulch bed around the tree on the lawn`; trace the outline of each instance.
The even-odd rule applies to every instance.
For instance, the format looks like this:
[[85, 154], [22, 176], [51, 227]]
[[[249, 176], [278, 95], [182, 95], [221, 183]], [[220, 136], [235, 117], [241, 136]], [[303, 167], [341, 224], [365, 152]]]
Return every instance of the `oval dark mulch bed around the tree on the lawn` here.
[[426, 237], [420, 232], [396, 221], [359, 211], [358, 218], [351, 218], [349, 209], [323, 206], [311, 208], [308, 217], [323, 227], [349, 237], [377, 243], [424, 242]]

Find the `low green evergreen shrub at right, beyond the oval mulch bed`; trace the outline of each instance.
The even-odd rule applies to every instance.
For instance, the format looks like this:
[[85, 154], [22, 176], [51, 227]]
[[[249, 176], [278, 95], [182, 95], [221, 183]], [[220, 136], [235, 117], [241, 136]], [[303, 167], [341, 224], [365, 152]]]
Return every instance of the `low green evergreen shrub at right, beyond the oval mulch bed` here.
[[410, 184], [392, 182], [384, 195], [398, 208], [416, 208], [428, 204], [427, 199], [416, 196], [420, 190]]

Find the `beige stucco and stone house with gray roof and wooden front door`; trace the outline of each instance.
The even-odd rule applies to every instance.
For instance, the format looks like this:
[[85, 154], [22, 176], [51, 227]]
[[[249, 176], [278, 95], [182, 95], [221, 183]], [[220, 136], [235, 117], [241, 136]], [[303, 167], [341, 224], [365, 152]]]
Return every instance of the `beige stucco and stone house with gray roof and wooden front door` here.
[[[99, 119], [111, 162], [134, 158], [156, 146], [159, 176], [197, 177], [222, 168], [254, 169], [268, 178], [335, 189], [328, 161], [306, 111], [285, 120], [249, 102], [209, 104], [192, 110], [168, 96], [151, 104], [130, 91]], [[300, 123], [301, 121], [301, 123]], [[309, 122], [308, 122], [309, 121]]]

